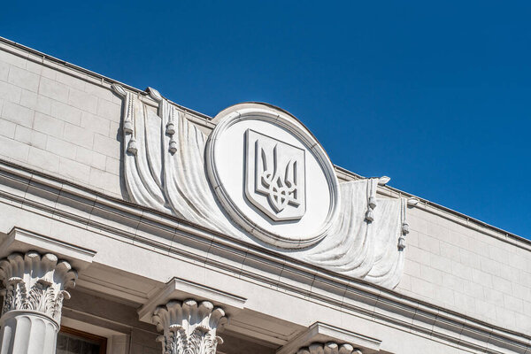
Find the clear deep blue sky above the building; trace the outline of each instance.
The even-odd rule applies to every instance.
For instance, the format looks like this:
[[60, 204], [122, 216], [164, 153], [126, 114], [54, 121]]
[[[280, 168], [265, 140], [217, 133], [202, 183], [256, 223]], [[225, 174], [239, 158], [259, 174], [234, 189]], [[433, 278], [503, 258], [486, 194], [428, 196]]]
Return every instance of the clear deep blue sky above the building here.
[[293, 113], [364, 176], [531, 237], [531, 2], [10, 2], [0, 35], [209, 115]]

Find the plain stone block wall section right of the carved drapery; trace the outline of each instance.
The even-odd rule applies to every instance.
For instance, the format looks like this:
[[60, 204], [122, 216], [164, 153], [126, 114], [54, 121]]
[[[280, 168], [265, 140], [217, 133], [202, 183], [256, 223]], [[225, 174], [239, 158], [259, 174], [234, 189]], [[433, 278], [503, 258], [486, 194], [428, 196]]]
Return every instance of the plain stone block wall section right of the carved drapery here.
[[499, 327], [531, 333], [531, 244], [472, 222], [470, 227], [460, 225], [466, 220], [427, 209], [408, 211], [411, 233], [397, 290]]

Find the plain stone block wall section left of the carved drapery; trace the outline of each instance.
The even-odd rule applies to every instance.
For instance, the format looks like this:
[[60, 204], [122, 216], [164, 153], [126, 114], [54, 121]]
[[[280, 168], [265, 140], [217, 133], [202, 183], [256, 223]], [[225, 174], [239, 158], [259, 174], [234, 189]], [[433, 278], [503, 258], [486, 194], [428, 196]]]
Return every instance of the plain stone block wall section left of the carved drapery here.
[[108, 87], [0, 43], [0, 158], [121, 197], [121, 99]]

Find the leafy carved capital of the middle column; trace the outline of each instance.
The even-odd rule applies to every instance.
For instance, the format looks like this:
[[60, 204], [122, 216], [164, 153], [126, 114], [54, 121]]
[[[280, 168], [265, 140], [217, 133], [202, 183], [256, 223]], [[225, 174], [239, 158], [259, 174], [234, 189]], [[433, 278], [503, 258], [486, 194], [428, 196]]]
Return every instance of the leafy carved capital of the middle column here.
[[158, 306], [153, 312], [153, 323], [157, 325], [158, 342], [162, 343], [163, 354], [202, 353], [215, 354], [216, 347], [223, 340], [216, 335], [216, 329], [227, 318], [225, 312], [212, 303], [195, 300], [183, 302], [172, 300], [165, 306]]

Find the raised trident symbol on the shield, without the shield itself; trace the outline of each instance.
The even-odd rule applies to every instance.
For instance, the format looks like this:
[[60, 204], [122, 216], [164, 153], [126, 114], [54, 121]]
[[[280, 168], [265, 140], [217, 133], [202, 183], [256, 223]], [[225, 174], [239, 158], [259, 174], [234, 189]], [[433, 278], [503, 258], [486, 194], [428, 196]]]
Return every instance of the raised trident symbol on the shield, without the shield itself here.
[[269, 203], [273, 206], [275, 212], [281, 212], [288, 204], [298, 206], [300, 203], [296, 193], [296, 161], [290, 159], [286, 165], [285, 171], [277, 168], [277, 145], [273, 148], [273, 171], [267, 165], [266, 151], [260, 149], [260, 158], [264, 172], [260, 176], [260, 183], [266, 189], [258, 191], [266, 194]]

